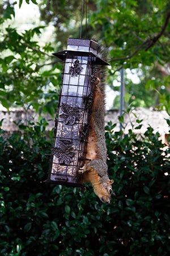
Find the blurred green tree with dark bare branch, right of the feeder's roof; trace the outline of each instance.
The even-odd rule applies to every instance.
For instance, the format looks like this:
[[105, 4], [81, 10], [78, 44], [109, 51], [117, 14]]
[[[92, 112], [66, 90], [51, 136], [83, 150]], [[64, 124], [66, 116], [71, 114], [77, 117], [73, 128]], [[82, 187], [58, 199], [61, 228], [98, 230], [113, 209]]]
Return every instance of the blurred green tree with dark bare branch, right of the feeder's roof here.
[[[66, 24], [63, 27], [78, 24], [66, 32], [61, 22], [57, 22], [58, 16], [63, 14], [63, 7], [66, 10], [65, 17], [60, 18]], [[69, 15], [71, 8], [75, 16]], [[57, 5], [49, 1], [44, 10], [40, 9], [41, 18], [46, 23], [56, 20], [56, 38], [61, 45], [65, 45], [68, 36], [79, 36], [80, 8], [79, 1], [74, 1], [72, 7], [69, 1], [58, 1]], [[95, 34], [108, 49], [112, 65], [108, 81], [110, 86], [113, 87], [113, 80], [119, 79], [116, 71], [121, 68], [135, 69], [140, 79], [138, 84], [125, 79], [129, 104], [149, 107], [161, 103], [159, 107], [165, 105], [168, 111], [169, 73], [163, 77], [160, 67], [169, 65], [169, 1], [87, 1], [87, 10], [88, 25], [86, 33], [86, 26], [83, 26], [83, 35], [91, 38]], [[60, 36], [61, 33], [65, 37]], [[116, 101], [114, 106], [118, 106]]]

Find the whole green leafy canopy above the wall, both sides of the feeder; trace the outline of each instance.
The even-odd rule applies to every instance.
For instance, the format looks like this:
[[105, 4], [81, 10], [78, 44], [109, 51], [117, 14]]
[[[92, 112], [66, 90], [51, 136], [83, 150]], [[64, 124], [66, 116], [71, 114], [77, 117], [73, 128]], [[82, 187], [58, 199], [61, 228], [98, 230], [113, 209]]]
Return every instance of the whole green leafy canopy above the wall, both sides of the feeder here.
[[[53, 25], [56, 33], [51, 42], [40, 44], [44, 26], [18, 32], [8, 20], [15, 16], [14, 2], [1, 5], [1, 96], [2, 105], [32, 105], [54, 112], [61, 81], [61, 64], [51, 53], [66, 48], [68, 37], [79, 38], [82, 2], [43, 1], [38, 4], [41, 20]], [[85, 1], [84, 1], [85, 2]], [[23, 1], [19, 1], [22, 7]], [[125, 100], [133, 106], [158, 106], [169, 110], [169, 6], [165, 1], [92, 0], [83, 7], [82, 37], [96, 37], [108, 49], [111, 63], [108, 84], [120, 80], [121, 68], [135, 71], [139, 82], [125, 72]], [[116, 103], [117, 102], [117, 103]], [[114, 107], [118, 107], [118, 98]]]

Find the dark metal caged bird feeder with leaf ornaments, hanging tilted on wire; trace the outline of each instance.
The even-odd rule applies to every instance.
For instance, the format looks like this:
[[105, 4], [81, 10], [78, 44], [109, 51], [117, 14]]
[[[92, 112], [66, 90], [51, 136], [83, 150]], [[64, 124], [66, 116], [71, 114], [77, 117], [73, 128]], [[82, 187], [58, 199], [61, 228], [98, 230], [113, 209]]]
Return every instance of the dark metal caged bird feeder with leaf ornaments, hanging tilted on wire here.
[[65, 51], [53, 53], [63, 60], [63, 73], [49, 183], [84, 187], [78, 171], [90, 160], [86, 148], [97, 65], [108, 65], [97, 56], [98, 49], [94, 40], [69, 38]]

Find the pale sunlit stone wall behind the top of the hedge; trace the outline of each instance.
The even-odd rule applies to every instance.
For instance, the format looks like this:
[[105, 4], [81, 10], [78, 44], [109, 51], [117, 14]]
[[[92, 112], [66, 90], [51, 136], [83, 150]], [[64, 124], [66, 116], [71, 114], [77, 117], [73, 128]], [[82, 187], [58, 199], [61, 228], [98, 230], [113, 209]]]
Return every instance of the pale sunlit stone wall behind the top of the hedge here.
[[[118, 110], [109, 110], [105, 115], [105, 123], [112, 121], [112, 123], [117, 123], [115, 127], [115, 131], [120, 129], [120, 123], [118, 121]], [[54, 119], [50, 115], [43, 116], [46, 121], [49, 123], [47, 130], [51, 130], [54, 127]], [[155, 111], [153, 109], [144, 109], [137, 108], [134, 109], [130, 114], [125, 115], [125, 133], [128, 133], [129, 129], [132, 129], [132, 125], [137, 126], [135, 122], [136, 117], [138, 119], [143, 119], [142, 121], [142, 129], [135, 130], [135, 133], [145, 133], [148, 125], [154, 128], [155, 132], [159, 131], [160, 134], [168, 134], [169, 127], [165, 118], [169, 118], [169, 115], [165, 111]], [[25, 114], [23, 109], [12, 109], [10, 112], [7, 110], [0, 111], [0, 120], [3, 119], [2, 129], [8, 132], [17, 131], [18, 127], [15, 123], [23, 122], [27, 123], [27, 121], [38, 121], [39, 115], [33, 112], [33, 110], [28, 110], [27, 114]]]

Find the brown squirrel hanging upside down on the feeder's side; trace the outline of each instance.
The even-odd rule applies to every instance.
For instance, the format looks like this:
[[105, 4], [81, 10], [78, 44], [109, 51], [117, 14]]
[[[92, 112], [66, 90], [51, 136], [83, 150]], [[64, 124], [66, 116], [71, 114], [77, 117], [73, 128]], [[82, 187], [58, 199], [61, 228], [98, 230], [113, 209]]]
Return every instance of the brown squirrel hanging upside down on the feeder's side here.
[[103, 203], [110, 203], [113, 180], [109, 179], [107, 166], [107, 147], [104, 137], [104, 93], [100, 79], [94, 83], [94, 102], [91, 112], [91, 125], [88, 135], [86, 161], [82, 171], [83, 183], [90, 182], [95, 194]]

